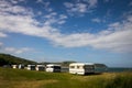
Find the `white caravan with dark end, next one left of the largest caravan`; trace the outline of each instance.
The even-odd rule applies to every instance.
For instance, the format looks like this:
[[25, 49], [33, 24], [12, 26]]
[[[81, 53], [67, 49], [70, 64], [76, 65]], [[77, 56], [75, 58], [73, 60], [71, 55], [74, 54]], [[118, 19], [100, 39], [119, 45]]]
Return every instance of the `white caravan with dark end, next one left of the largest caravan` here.
[[61, 73], [61, 65], [48, 64], [46, 65], [46, 72]]

